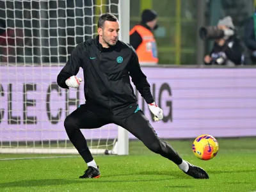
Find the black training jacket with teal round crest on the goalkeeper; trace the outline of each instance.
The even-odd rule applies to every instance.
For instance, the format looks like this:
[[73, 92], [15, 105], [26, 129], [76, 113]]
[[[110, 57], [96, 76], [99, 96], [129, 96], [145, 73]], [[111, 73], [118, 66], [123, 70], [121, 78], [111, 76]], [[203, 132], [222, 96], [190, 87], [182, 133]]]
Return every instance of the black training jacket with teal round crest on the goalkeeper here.
[[146, 102], [154, 102], [138, 56], [129, 44], [118, 40], [115, 46], [104, 48], [99, 44], [99, 36], [78, 44], [58, 74], [58, 85], [68, 88], [65, 81], [70, 76], [76, 76], [79, 67], [83, 68], [86, 102], [94, 102], [111, 111], [120, 111], [135, 104], [137, 98], [129, 76]]

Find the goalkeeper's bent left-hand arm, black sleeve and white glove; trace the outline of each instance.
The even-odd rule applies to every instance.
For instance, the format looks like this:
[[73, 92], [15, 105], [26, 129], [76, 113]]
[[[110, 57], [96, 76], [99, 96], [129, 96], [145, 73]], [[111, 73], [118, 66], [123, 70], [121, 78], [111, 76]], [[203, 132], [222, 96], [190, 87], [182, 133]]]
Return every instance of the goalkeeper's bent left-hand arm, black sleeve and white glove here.
[[82, 67], [80, 44], [73, 49], [66, 65], [61, 69], [60, 74], [58, 74], [58, 85], [61, 88], [77, 88], [82, 81], [82, 79], [76, 77], [79, 67]]

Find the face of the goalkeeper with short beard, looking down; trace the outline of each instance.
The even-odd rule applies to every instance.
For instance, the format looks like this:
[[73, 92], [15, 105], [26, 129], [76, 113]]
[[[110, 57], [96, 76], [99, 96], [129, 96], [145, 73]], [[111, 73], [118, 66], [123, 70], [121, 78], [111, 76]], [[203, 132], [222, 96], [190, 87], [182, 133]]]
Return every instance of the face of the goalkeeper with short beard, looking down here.
[[118, 21], [108, 21], [104, 22], [102, 30], [99, 30], [99, 35], [102, 36], [102, 40], [106, 42], [109, 46], [116, 44], [118, 40], [119, 33], [119, 22]]

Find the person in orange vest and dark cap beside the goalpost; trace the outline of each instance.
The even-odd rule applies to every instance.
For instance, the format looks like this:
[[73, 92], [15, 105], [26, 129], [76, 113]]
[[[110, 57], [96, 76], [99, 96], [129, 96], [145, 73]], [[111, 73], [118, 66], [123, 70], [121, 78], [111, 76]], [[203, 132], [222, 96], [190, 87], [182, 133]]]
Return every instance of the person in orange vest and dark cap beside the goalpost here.
[[153, 34], [157, 27], [157, 13], [154, 10], [143, 10], [140, 24], [136, 24], [129, 33], [130, 44], [136, 50], [140, 64], [158, 63], [156, 39]]

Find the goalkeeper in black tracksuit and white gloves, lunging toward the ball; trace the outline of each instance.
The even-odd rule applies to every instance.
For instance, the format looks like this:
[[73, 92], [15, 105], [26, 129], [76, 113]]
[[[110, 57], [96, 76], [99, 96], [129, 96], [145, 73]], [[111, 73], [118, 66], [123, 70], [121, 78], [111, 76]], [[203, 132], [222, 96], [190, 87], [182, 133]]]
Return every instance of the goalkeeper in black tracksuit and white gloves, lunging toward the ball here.
[[129, 76], [146, 100], [155, 120], [163, 119], [163, 110], [154, 102], [136, 52], [131, 45], [118, 40], [118, 32], [117, 18], [110, 13], [101, 15], [98, 21], [99, 35], [78, 44], [57, 77], [61, 88], [78, 88], [82, 79], [76, 75], [79, 68], [83, 68], [86, 102], [70, 113], [64, 122], [68, 138], [88, 166], [79, 178], [100, 177], [99, 166], [80, 129], [116, 124], [131, 132], [152, 152], [173, 161], [184, 173], [196, 179], [208, 179], [202, 168], [184, 161], [168, 143], [158, 138], [138, 107]]

